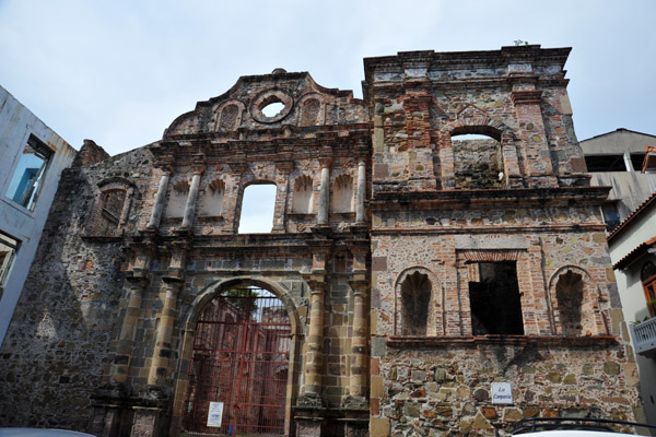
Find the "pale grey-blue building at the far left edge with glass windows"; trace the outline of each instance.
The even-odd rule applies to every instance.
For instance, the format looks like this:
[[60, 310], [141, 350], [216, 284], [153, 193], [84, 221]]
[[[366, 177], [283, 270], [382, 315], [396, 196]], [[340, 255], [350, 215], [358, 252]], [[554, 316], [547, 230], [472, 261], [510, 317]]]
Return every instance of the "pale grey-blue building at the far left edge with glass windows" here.
[[0, 86], [0, 344], [75, 151]]

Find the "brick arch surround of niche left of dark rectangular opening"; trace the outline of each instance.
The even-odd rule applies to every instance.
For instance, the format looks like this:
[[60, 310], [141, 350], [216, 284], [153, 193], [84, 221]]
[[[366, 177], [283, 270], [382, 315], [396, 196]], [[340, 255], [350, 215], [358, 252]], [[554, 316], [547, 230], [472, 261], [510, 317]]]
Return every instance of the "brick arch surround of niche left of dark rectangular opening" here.
[[401, 273], [399, 273], [399, 275], [397, 276], [397, 280], [395, 282], [395, 299], [394, 299], [394, 333], [395, 335], [401, 335], [402, 333], [402, 326], [403, 326], [403, 320], [402, 320], [402, 308], [401, 308], [401, 292], [402, 292], [402, 284], [403, 282], [411, 275], [414, 273], [420, 273], [420, 274], [425, 274], [429, 279], [429, 281], [431, 282], [431, 296], [430, 296], [430, 300], [429, 300], [429, 314], [426, 317], [426, 336], [435, 336], [438, 334], [444, 334], [444, 332], [441, 333], [442, 331], [442, 323], [440, 322], [440, 320], [442, 319], [442, 316], [438, 314], [440, 311], [437, 310], [437, 308], [440, 308], [443, 303], [442, 303], [442, 284], [440, 283], [440, 281], [437, 280], [437, 275], [430, 269], [426, 269], [425, 267], [422, 265], [413, 265], [411, 268], [408, 268], [406, 270], [403, 270]]

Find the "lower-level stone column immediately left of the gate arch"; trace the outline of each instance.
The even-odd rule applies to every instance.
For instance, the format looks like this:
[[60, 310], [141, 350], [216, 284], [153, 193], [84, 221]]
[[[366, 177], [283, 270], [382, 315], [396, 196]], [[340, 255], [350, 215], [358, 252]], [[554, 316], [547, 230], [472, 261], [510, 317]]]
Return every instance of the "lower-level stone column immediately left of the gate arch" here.
[[155, 340], [153, 361], [148, 376], [150, 386], [154, 386], [160, 379], [166, 378], [166, 370], [171, 368], [169, 357], [173, 353], [171, 340], [173, 338], [173, 324], [175, 323], [177, 296], [181, 285], [181, 280], [178, 277], [165, 276], [163, 281], [164, 307], [160, 316], [157, 339]]

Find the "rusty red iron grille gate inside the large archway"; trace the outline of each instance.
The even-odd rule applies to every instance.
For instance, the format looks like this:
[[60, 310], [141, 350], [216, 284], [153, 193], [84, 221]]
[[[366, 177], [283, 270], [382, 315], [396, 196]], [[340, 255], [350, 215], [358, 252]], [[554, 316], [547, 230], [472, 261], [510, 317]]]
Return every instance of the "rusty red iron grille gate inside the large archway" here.
[[290, 333], [286, 309], [266, 290], [233, 288], [214, 298], [196, 329], [186, 433], [284, 435]]

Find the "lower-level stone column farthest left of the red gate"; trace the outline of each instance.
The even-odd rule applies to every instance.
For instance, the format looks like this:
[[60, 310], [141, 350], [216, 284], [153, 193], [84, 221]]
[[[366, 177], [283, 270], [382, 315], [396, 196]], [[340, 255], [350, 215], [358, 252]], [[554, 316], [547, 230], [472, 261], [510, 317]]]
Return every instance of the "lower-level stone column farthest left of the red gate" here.
[[116, 355], [112, 364], [110, 378], [113, 382], [127, 382], [130, 361], [132, 357], [132, 346], [134, 344], [134, 333], [137, 332], [137, 322], [139, 321], [139, 311], [141, 308], [141, 297], [148, 281], [140, 277], [129, 276], [128, 283], [128, 308], [120, 328], [120, 334], [116, 346]]

